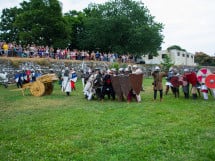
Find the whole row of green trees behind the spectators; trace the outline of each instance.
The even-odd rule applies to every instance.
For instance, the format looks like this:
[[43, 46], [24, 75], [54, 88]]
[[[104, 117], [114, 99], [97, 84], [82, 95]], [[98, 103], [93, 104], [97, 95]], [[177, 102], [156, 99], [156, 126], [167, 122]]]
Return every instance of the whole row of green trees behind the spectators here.
[[154, 20], [147, 7], [133, 0], [91, 3], [83, 11], [65, 14], [58, 0], [30, 0], [19, 8], [3, 9], [0, 41], [156, 55], [164, 38], [162, 30], [163, 24]]

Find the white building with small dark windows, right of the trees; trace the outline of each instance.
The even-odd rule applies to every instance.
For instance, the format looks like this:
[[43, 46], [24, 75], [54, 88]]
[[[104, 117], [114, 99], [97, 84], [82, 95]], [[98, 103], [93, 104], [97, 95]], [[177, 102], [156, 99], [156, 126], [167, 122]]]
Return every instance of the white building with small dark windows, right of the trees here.
[[170, 57], [171, 63], [174, 65], [196, 66], [194, 54], [177, 49], [171, 49], [170, 51], [161, 50], [158, 51], [158, 56], [145, 55], [143, 59], [146, 64], [161, 64], [166, 55]]

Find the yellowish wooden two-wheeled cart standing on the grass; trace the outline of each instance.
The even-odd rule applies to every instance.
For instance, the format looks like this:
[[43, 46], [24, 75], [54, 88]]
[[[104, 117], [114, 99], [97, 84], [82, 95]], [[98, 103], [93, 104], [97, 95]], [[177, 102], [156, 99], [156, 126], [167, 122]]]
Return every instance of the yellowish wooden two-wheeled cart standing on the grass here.
[[57, 80], [58, 78], [55, 74], [42, 75], [36, 81], [24, 84], [22, 94], [24, 95], [24, 90], [29, 89], [33, 96], [50, 95], [54, 89], [53, 82]]

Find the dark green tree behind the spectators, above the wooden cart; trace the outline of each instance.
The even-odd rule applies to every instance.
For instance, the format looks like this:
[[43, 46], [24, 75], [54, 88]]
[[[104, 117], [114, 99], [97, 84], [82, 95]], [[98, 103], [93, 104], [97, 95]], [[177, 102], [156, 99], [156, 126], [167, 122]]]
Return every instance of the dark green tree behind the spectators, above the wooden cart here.
[[14, 22], [20, 41], [25, 44], [67, 47], [69, 29], [58, 0], [30, 0], [20, 5], [22, 12]]

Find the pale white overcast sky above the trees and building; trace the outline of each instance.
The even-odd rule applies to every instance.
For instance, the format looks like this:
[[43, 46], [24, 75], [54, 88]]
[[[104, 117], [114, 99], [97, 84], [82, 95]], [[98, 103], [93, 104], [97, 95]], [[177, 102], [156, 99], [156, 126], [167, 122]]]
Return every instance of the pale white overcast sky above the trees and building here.
[[[2, 0], [1, 0], [2, 1]], [[81, 11], [88, 4], [108, 0], [59, 0], [63, 12]], [[178, 45], [187, 52], [215, 56], [215, 0], [138, 0], [149, 9], [156, 22], [164, 24], [162, 49]], [[19, 6], [22, 0], [7, 0], [3, 8]]]

